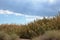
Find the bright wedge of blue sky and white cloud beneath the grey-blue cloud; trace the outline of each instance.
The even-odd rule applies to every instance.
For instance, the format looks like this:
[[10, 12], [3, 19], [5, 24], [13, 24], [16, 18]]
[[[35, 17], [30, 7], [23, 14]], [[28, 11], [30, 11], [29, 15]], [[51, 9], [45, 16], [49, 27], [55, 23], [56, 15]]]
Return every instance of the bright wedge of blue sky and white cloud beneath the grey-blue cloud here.
[[[2, 16], [1, 14], [4, 16]], [[26, 15], [26, 14], [16, 13], [9, 10], [0, 10], [0, 18], [1, 18], [0, 20], [1, 23], [27, 24], [37, 19], [43, 19], [43, 16]], [[48, 18], [48, 16], [45, 16], [45, 18]], [[49, 17], [49, 18], [52, 18], [52, 17]]]

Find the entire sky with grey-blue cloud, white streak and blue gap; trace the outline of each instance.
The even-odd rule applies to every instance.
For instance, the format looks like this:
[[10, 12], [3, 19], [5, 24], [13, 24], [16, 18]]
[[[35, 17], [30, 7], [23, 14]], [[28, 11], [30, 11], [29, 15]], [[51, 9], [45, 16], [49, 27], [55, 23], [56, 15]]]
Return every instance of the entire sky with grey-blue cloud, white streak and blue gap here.
[[0, 24], [26, 24], [60, 11], [60, 0], [0, 0]]

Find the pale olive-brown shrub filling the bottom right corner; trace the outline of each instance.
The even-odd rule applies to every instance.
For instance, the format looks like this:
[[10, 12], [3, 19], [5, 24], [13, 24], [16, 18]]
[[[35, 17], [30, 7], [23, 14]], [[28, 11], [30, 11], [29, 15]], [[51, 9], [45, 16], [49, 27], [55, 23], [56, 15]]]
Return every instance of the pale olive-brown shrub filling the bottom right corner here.
[[32, 40], [60, 40], [60, 31], [47, 31], [44, 35], [41, 35]]

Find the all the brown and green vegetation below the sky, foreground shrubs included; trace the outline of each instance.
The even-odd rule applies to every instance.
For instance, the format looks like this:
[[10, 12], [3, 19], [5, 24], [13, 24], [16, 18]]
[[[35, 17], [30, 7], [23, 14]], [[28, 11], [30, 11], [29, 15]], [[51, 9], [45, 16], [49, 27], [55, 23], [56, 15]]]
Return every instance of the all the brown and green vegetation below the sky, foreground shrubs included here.
[[26, 25], [1, 24], [0, 40], [60, 40], [60, 15]]

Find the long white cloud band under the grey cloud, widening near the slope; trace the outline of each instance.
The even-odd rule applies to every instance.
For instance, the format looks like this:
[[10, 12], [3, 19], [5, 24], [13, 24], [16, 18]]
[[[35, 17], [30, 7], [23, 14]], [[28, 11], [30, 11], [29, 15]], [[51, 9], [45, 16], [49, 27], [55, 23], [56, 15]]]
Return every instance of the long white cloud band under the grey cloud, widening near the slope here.
[[[12, 12], [9, 10], [0, 10], [0, 14], [15, 15], [16, 17], [23, 16], [23, 17], [25, 17], [26, 22], [31, 22], [36, 19], [43, 19], [42, 16], [24, 15], [22, 13], [16, 13], [16, 12]], [[48, 18], [48, 17], [46, 16], [46, 18]]]

